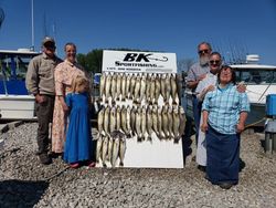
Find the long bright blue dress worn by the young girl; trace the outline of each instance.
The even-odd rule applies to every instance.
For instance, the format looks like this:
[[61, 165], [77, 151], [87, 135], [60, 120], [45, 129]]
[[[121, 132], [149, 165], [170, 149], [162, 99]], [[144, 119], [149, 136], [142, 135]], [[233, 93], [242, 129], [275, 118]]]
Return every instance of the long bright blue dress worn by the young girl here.
[[64, 160], [77, 163], [93, 158], [93, 143], [89, 123], [87, 93], [70, 93], [66, 104], [71, 108], [70, 123], [66, 133]]

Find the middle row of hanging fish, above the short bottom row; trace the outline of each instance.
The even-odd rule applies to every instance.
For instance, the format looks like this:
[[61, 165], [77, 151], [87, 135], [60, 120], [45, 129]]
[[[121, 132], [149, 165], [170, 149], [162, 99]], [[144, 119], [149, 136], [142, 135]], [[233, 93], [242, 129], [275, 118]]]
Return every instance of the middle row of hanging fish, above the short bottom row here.
[[98, 113], [99, 136], [110, 136], [114, 131], [123, 132], [128, 138], [179, 141], [184, 133], [185, 115], [178, 105], [106, 106]]

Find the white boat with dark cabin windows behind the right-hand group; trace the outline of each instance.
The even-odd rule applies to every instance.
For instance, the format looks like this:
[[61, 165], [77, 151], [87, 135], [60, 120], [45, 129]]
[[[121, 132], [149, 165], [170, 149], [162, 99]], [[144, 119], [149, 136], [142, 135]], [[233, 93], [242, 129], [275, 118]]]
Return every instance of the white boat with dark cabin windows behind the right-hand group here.
[[[264, 126], [266, 121], [266, 96], [276, 94], [276, 65], [259, 64], [258, 55], [247, 55], [246, 62], [230, 65], [236, 72], [236, 81], [244, 82], [251, 103], [251, 113], [246, 121], [246, 127]], [[184, 105], [187, 115], [192, 116], [192, 93], [187, 90]]]

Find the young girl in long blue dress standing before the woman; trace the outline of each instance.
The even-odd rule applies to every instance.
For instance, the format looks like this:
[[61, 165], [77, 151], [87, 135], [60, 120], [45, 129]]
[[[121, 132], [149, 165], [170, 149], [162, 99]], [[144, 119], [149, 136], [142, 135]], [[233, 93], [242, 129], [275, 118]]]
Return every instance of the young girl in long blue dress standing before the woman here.
[[64, 160], [72, 168], [77, 168], [81, 164], [94, 167], [89, 122], [89, 81], [78, 75], [73, 82], [73, 92], [66, 96], [66, 105], [70, 107], [70, 123], [66, 133]]

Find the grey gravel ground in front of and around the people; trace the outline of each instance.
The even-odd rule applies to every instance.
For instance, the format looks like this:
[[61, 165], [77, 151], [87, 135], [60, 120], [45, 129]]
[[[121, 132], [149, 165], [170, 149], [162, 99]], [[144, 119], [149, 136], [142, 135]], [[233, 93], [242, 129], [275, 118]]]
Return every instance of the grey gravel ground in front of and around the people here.
[[43, 166], [34, 155], [36, 127], [1, 135], [0, 207], [276, 207], [276, 154], [264, 153], [264, 134], [243, 134], [240, 184], [223, 190], [204, 179], [193, 155], [182, 169], [70, 169], [61, 158]]

